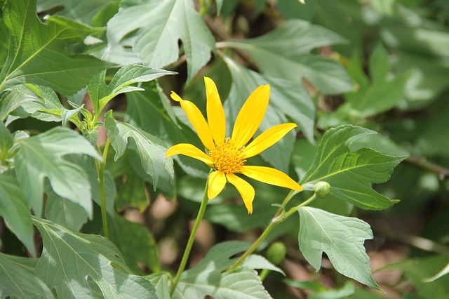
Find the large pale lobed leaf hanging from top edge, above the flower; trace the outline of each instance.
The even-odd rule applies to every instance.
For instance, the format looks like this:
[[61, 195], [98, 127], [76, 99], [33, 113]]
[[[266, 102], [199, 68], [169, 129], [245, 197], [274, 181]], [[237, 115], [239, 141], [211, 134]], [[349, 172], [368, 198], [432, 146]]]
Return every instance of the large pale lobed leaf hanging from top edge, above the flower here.
[[[122, 1], [121, 10], [107, 24], [107, 40], [112, 54], [120, 51], [126, 36], [133, 38], [133, 51], [144, 65], [164, 67], [179, 56], [178, 41], [187, 56], [187, 81], [210, 60], [215, 39], [196, 11], [185, 0]], [[117, 61], [119, 63], [119, 61]]]

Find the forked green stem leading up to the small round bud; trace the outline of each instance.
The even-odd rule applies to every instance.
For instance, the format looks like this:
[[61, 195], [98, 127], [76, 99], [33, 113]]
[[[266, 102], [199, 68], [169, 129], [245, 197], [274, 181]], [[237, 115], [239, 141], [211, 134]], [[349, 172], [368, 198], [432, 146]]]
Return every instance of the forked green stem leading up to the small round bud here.
[[253, 245], [251, 245], [251, 247], [248, 248], [248, 250], [246, 250], [245, 253], [243, 253], [243, 255], [241, 255], [239, 260], [237, 260], [236, 263], [234, 263], [234, 265], [232, 265], [228, 269], [228, 271], [236, 270], [237, 267], [239, 267], [239, 265], [241, 265], [241, 263], [243, 263], [243, 261], [246, 258], [248, 258], [248, 256], [257, 249], [257, 247], [260, 246], [260, 244], [262, 244], [264, 239], [267, 238], [268, 234], [273, 230], [273, 228], [276, 225], [278, 225], [280, 222], [285, 221], [287, 218], [289, 218], [291, 215], [293, 215], [297, 211], [298, 206], [307, 206], [308, 204], [310, 204], [312, 201], [314, 201], [316, 199], [316, 195], [314, 194], [309, 199], [304, 201], [302, 204], [300, 204], [298, 206], [294, 206], [293, 208], [290, 208], [290, 210], [288, 210], [288, 212], [286, 212], [285, 207], [288, 204], [288, 201], [290, 201], [290, 199], [292, 199], [293, 195], [295, 195], [295, 194], [296, 194], [296, 192], [290, 191], [290, 193], [287, 195], [286, 199], [283, 200], [281, 208], [279, 208], [276, 215], [274, 215], [274, 218], [272, 219], [272, 221], [269, 222], [269, 225], [267, 226], [267, 228], [265, 228], [265, 230], [262, 232], [262, 234], [260, 234], [260, 236], [257, 238], [257, 240], [255, 240]]

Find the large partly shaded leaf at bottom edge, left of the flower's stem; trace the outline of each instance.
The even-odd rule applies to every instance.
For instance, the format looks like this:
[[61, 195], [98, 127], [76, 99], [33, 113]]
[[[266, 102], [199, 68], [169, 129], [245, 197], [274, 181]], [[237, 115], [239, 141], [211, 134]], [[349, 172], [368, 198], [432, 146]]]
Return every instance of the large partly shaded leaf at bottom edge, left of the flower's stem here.
[[33, 222], [43, 240], [36, 274], [55, 288], [59, 298], [91, 297], [98, 288], [104, 298], [156, 298], [147, 279], [126, 273], [121, 253], [111, 241], [48, 220]]

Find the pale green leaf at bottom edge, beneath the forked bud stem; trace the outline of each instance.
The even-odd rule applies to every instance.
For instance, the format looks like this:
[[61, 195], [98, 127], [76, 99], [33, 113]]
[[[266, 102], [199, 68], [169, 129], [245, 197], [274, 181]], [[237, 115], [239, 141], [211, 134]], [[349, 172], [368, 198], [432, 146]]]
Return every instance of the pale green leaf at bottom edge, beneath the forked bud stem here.
[[[206, 295], [217, 299], [271, 298], [254, 270], [244, 267], [222, 273], [236, 261], [236, 258], [229, 258], [246, 248], [248, 244], [240, 241], [224, 242], [214, 246], [198, 265], [182, 274], [175, 288], [174, 298], [203, 298]], [[248, 267], [261, 266], [259, 263], [250, 264]]]

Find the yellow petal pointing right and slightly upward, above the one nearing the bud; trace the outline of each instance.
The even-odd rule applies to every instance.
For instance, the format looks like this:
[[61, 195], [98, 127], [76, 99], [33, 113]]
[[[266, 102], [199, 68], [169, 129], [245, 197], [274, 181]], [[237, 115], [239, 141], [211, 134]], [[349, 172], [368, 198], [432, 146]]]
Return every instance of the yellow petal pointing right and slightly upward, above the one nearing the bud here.
[[250, 144], [243, 149], [243, 155], [245, 158], [250, 158], [254, 157], [256, 154], [260, 154], [264, 150], [267, 150], [268, 147], [271, 147], [274, 143], [281, 140], [286, 133], [296, 127], [296, 124], [288, 123], [269, 128], [267, 131], [258, 135], [255, 140], [251, 141]]

